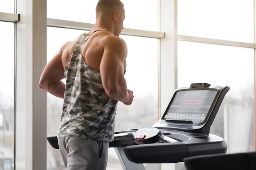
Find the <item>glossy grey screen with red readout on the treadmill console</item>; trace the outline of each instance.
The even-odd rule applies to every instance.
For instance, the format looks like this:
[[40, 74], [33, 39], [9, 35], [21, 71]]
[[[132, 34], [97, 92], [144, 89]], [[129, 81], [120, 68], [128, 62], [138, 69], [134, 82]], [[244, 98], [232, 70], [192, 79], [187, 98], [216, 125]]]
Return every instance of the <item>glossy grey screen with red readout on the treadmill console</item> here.
[[216, 94], [216, 90], [177, 91], [164, 119], [204, 121]]

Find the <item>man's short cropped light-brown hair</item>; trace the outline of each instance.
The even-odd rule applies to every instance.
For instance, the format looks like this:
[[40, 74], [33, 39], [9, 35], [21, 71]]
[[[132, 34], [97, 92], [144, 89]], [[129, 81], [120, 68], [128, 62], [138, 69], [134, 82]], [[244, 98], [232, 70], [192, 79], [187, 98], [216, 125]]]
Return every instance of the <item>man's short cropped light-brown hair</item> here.
[[98, 17], [101, 13], [106, 15], [120, 9], [121, 7], [124, 8], [124, 4], [120, 0], [99, 0], [96, 6], [96, 17]]

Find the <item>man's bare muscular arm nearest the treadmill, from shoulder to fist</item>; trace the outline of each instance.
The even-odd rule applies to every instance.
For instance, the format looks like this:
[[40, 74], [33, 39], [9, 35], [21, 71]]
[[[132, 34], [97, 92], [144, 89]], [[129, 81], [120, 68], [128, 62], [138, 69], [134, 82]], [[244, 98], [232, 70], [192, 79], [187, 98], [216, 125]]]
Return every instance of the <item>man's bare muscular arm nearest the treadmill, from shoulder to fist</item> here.
[[103, 87], [111, 99], [130, 105], [133, 100], [133, 92], [127, 89], [124, 78], [126, 43], [116, 36], [110, 36], [107, 42], [100, 64]]

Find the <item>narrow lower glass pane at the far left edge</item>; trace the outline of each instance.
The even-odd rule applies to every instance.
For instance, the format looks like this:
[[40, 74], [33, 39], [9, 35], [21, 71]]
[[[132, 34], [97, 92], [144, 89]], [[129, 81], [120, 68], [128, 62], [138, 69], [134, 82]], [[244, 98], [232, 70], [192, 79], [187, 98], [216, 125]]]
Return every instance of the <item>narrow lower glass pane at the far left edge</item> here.
[[[0, 22], [0, 169], [12, 170], [14, 159], [14, 24]], [[8, 45], [6, 45], [8, 44]], [[5, 63], [5, 64], [3, 64]]]

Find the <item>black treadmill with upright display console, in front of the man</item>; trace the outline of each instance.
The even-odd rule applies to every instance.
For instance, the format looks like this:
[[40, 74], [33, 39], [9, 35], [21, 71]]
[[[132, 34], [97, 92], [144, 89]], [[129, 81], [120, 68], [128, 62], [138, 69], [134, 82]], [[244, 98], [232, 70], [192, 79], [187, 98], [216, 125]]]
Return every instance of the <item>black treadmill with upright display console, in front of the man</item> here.
[[115, 132], [114, 147], [124, 170], [145, 170], [143, 163], [177, 163], [184, 158], [226, 154], [227, 143], [209, 133], [229, 86], [207, 83], [178, 88], [152, 126]]

